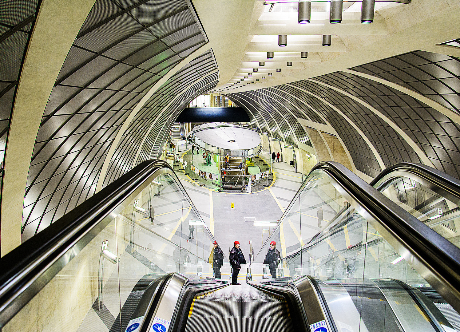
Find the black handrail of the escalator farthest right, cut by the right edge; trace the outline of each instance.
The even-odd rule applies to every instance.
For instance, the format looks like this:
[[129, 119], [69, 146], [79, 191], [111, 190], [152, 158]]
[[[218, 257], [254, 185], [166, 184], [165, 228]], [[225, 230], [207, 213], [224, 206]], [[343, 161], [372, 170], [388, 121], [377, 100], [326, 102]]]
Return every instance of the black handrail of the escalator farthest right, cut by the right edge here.
[[[375, 186], [383, 178], [393, 172], [410, 172], [419, 177], [422, 177], [432, 183], [434, 186], [449, 192], [451, 195], [460, 199], [460, 180], [437, 169], [417, 163], [398, 163], [385, 168], [379, 173], [369, 184]], [[430, 188], [431, 189], [431, 188]]]

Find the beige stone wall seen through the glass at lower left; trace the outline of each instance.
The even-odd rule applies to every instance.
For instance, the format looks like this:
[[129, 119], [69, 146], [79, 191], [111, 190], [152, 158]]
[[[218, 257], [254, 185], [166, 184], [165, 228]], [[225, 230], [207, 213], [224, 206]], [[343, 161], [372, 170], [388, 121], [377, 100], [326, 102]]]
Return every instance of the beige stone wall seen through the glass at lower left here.
[[[115, 253], [114, 221], [67, 263], [2, 331], [76, 331], [98, 297], [99, 255], [103, 240], [109, 240], [108, 249]], [[115, 267], [115, 264], [104, 263], [103, 293], [105, 288], [112, 292], [119, 291], [118, 278], [116, 287], [112, 285], [113, 276], [110, 278], [113, 273], [117, 273]], [[119, 298], [119, 294], [111, 295]], [[114, 312], [112, 314], [115, 317], [118, 315]]]

